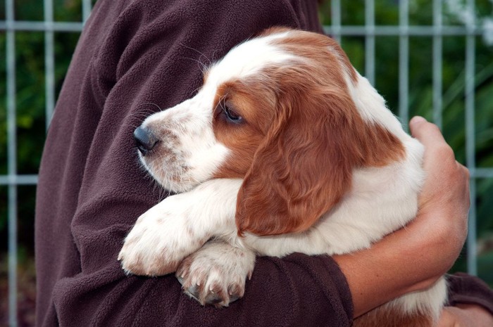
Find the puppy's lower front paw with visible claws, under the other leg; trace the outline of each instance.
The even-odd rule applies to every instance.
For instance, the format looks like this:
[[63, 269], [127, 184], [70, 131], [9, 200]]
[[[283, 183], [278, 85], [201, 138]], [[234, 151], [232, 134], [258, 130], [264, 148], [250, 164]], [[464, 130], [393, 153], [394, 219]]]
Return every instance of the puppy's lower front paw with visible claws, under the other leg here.
[[227, 307], [243, 297], [254, 264], [254, 252], [209, 241], [181, 262], [176, 276], [185, 294], [202, 305]]

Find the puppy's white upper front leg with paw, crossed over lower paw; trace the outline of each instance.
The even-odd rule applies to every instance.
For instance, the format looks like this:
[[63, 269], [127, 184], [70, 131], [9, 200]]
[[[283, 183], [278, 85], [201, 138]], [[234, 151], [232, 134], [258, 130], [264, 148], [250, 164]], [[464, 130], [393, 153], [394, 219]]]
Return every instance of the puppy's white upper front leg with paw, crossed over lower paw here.
[[127, 274], [162, 276], [213, 237], [235, 239], [241, 179], [212, 179], [172, 195], [142, 214], [118, 260]]

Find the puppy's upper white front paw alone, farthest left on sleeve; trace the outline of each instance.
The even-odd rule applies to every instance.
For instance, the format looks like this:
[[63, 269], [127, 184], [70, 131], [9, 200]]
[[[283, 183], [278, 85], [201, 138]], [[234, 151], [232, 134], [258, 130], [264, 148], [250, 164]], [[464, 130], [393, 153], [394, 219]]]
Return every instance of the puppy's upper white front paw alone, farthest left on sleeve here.
[[182, 259], [206, 243], [207, 236], [195, 235], [189, 227], [191, 219], [186, 210], [175, 210], [173, 198], [167, 198], [137, 219], [118, 255], [125, 273], [170, 274]]

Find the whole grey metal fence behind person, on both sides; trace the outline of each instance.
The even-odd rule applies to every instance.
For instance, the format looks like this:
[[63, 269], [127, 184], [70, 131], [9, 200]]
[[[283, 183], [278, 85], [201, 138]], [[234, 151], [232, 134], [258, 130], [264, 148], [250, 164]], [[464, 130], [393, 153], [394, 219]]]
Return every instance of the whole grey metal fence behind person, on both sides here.
[[[6, 33], [6, 85], [7, 85], [7, 140], [8, 140], [8, 173], [0, 176], [0, 186], [8, 187], [8, 303], [9, 325], [18, 326], [17, 321], [17, 223], [18, 223], [18, 186], [37, 184], [37, 175], [18, 174], [16, 162], [18, 142], [16, 139], [16, 65], [15, 33], [19, 31], [44, 32], [44, 65], [45, 65], [45, 115], [46, 127], [54, 110], [54, 33], [75, 32], [82, 30], [83, 22], [89, 17], [92, 8], [91, 0], [83, 0], [80, 11], [82, 22], [69, 23], [54, 21], [53, 0], [44, 0], [44, 20], [15, 20], [14, 1], [5, 1], [5, 20], [0, 21], [0, 32]], [[475, 42], [476, 37], [484, 34], [485, 29], [476, 24], [474, 19], [462, 26], [447, 26], [442, 22], [442, 0], [432, 2], [432, 25], [409, 25], [409, 0], [399, 1], [398, 25], [375, 25], [375, 0], [364, 1], [365, 22], [363, 25], [342, 24], [341, 0], [330, 3], [330, 25], [325, 32], [335, 39], [343, 37], [363, 37], [365, 41], [365, 75], [370, 82], [375, 82], [375, 39], [377, 37], [394, 36], [399, 38], [399, 115], [402, 121], [409, 119], [409, 38], [432, 38], [432, 110], [433, 120], [442, 126], [442, 42], [444, 37], [463, 37], [466, 39], [465, 65], [465, 123], [466, 123], [466, 165], [470, 169], [470, 226], [467, 241], [468, 272], [477, 274], [476, 262], [476, 180], [493, 178], [493, 168], [476, 167], [475, 162]], [[474, 12], [474, 1], [466, 0], [466, 8]], [[493, 33], [493, 31], [491, 31]], [[2, 54], [3, 55], [3, 54]], [[4, 77], [2, 77], [4, 78]]]

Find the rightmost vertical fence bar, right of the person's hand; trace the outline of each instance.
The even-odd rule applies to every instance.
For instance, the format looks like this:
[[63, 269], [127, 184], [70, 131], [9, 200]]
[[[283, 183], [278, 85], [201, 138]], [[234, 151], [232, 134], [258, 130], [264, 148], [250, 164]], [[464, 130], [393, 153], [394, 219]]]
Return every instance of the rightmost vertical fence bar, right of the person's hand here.
[[471, 171], [470, 179], [470, 211], [468, 226], [468, 273], [478, 274], [478, 255], [476, 245], [476, 179], [475, 179], [475, 5], [474, 0], [467, 1], [467, 11], [470, 19], [466, 21], [468, 34], [466, 36], [466, 165]]

